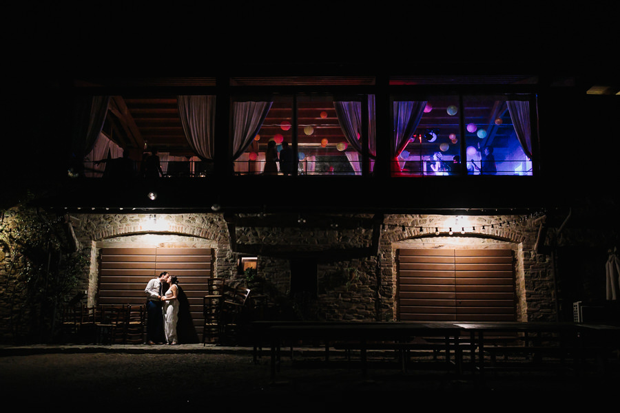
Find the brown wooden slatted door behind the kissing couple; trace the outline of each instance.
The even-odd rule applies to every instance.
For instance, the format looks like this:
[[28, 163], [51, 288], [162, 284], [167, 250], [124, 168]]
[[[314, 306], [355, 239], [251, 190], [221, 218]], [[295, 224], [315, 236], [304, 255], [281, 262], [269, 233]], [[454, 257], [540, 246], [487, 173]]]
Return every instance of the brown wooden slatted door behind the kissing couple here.
[[203, 297], [212, 276], [211, 248], [102, 248], [99, 304], [143, 304], [144, 288], [168, 271], [178, 277], [189, 300], [196, 331], [203, 329]]

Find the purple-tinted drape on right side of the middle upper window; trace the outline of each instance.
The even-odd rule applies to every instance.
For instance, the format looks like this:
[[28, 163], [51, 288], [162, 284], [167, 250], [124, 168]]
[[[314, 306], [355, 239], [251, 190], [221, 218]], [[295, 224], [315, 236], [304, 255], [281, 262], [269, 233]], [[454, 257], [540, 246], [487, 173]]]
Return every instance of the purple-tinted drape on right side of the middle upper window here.
[[[349, 145], [355, 149], [358, 153], [363, 153], [362, 148], [362, 103], [358, 101], [345, 101], [335, 100], [333, 107], [338, 117], [338, 123], [340, 129], [344, 133], [344, 138], [347, 139]], [[370, 158], [376, 156], [376, 139], [375, 139], [375, 96], [368, 96], [368, 152]], [[349, 152], [347, 152], [347, 158], [349, 158]], [[351, 158], [349, 158], [351, 161]], [[361, 169], [359, 156], [356, 165], [351, 166], [356, 174], [358, 169]]]

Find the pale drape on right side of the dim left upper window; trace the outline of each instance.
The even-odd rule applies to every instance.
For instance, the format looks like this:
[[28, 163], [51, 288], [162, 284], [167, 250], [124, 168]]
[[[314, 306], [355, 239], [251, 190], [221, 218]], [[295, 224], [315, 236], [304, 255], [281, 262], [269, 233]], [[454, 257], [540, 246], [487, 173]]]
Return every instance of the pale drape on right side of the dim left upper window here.
[[216, 97], [211, 95], [177, 96], [178, 113], [185, 138], [200, 159], [214, 159]]

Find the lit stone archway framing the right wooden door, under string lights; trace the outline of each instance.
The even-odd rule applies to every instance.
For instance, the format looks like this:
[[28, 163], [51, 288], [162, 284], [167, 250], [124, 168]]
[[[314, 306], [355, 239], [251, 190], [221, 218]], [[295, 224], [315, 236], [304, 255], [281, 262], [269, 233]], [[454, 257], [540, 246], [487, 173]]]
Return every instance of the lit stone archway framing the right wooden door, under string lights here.
[[[537, 226], [533, 220], [522, 217], [476, 217], [475, 224], [464, 233], [460, 228], [450, 234], [446, 221], [453, 215], [392, 215], [386, 220], [382, 234], [380, 257], [384, 268], [384, 297], [391, 297], [391, 311], [395, 314], [398, 248], [509, 248], [515, 256], [515, 292], [517, 295], [517, 319], [555, 319], [555, 283], [552, 266], [546, 257], [533, 250]], [[495, 222], [512, 224], [499, 225]], [[439, 235], [435, 235], [435, 228]], [[387, 303], [386, 303], [387, 305]], [[543, 310], [544, 309], [544, 310]]]

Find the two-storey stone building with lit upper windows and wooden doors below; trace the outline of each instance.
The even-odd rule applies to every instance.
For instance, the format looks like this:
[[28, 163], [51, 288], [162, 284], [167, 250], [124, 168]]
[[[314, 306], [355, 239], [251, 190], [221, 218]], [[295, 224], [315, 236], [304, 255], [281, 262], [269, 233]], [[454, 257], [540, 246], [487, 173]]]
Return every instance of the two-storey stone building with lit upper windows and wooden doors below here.
[[[612, 162], [582, 159], [618, 153], [616, 79], [605, 59], [592, 70], [567, 65], [572, 53], [552, 59], [535, 50], [518, 65], [493, 56], [464, 70], [448, 64], [456, 57], [439, 56], [431, 73], [394, 59], [394, 48], [376, 56], [364, 49], [353, 63], [227, 57], [198, 77], [189, 67], [167, 76], [178, 73], [172, 62], [124, 67], [127, 76], [118, 77], [122, 59], [110, 67], [96, 54], [90, 69], [66, 59], [29, 83], [48, 110], [25, 115], [32, 139], [17, 143], [32, 154], [31, 167], [10, 180], [1, 205], [3, 339], [17, 330], [32, 339], [40, 328], [25, 298], [34, 294], [28, 286], [40, 287], [32, 274], [62, 273], [68, 255], [83, 260], [55, 304], [81, 293], [92, 305], [139, 292], [144, 279], [130, 279], [134, 268], [110, 264], [121, 250], [148, 262], [146, 279], [180, 260], [181, 282], [250, 283], [269, 308], [278, 301], [274, 317], [566, 321], [577, 301], [610, 306], [604, 263], [619, 222], [613, 194], [599, 187], [617, 187], [617, 171]], [[91, 111], [82, 129], [73, 116], [78, 102]], [[207, 108], [205, 134], [187, 121], [196, 120], [185, 112], [198, 111], [192, 105]], [[240, 122], [238, 112], [251, 116]], [[399, 123], [404, 113], [416, 121]], [[282, 164], [276, 176], [262, 173], [267, 140], [291, 144], [298, 161], [290, 175]], [[495, 148], [493, 173], [482, 170], [485, 147]], [[157, 151], [165, 178], [137, 176], [143, 156]], [[127, 159], [135, 176], [114, 178], [112, 166]], [[442, 165], [448, 161], [451, 168]], [[21, 202], [27, 192], [34, 198]], [[24, 235], [23, 211], [56, 240], [45, 251], [62, 251], [48, 255], [58, 262], [48, 270], [31, 271], [18, 248], [37, 233], [32, 226]], [[186, 260], [192, 254], [200, 258]], [[244, 262], [256, 266], [254, 278]], [[497, 279], [465, 282], [461, 299], [446, 297], [437, 287], [444, 282], [484, 279], [459, 273], [475, 272], [472, 262], [485, 266], [481, 273], [506, 275], [502, 288], [483, 288]], [[493, 269], [497, 262], [505, 267]], [[425, 271], [441, 281], [429, 282]], [[187, 283], [196, 319], [203, 282]], [[427, 284], [437, 288], [412, 287]], [[50, 322], [48, 314], [39, 318]]]

